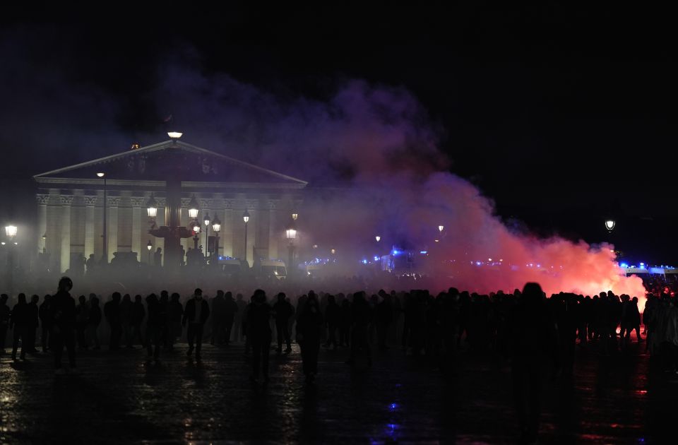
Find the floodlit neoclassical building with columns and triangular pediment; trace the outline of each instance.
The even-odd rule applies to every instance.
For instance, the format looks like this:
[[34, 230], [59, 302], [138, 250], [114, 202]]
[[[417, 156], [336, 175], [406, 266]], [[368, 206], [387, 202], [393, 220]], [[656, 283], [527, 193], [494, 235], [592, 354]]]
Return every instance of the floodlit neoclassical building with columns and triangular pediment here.
[[[97, 175], [100, 173], [104, 176]], [[150, 235], [149, 230], [154, 223], [157, 227], [165, 225], [168, 178], [181, 179], [183, 226], [191, 223], [188, 209], [193, 196], [199, 204], [198, 221], [207, 213], [221, 220], [220, 255], [246, 257], [250, 264], [255, 258], [285, 256], [285, 227], [300, 206], [302, 189], [307, 185], [301, 179], [176, 138], [34, 178], [38, 188], [37, 249], [49, 254], [52, 267], [60, 271], [90, 254], [100, 259], [105, 250], [108, 261], [116, 252], [136, 252], [138, 261], [147, 262], [148, 242], [153, 251], [164, 247], [164, 239]], [[146, 210], [152, 195], [158, 207], [155, 221]], [[247, 247], [242, 218], [245, 210], [249, 213]], [[214, 234], [207, 234], [203, 227], [199, 235], [203, 247], [208, 244], [206, 235]], [[188, 251], [194, 239], [184, 238], [181, 243]]]

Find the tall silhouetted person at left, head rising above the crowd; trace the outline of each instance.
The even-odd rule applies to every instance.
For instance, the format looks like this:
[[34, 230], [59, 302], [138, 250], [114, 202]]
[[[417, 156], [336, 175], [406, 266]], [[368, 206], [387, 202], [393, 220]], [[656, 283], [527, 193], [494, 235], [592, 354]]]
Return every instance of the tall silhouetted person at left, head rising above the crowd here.
[[64, 374], [61, 368], [61, 355], [64, 346], [69, 351], [71, 371], [76, 372], [76, 300], [69, 291], [73, 288], [71, 278], [59, 280], [59, 290], [52, 297], [49, 308], [52, 311], [52, 348], [54, 348], [54, 369], [56, 374]]

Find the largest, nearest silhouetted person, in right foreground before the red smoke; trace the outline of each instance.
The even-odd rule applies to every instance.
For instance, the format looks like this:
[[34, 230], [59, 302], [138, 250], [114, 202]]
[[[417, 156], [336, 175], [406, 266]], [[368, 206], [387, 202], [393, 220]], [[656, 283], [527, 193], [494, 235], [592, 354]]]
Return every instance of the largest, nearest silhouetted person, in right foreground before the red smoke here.
[[540, 285], [525, 285], [510, 323], [513, 398], [521, 441], [533, 443], [539, 432], [542, 377], [557, 354], [555, 326]]

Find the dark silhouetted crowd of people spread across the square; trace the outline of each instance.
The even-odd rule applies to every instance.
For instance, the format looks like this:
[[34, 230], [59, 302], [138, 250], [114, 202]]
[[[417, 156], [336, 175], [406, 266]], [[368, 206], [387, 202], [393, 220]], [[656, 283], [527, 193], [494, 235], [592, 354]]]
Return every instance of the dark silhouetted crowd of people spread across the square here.
[[635, 332], [636, 341], [647, 341], [646, 348], [678, 372], [678, 304], [668, 293], [648, 295], [641, 316], [636, 296], [561, 292], [547, 298], [536, 283], [528, 283], [522, 291], [489, 295], [451, 287], [437, 295], [427, 290], [309, 290], [268, 297], [256, 289], [251, 295], [235, 296], [215, 290], [208, 297], [195, 288], [183, 298], [162, 290], [145, 296], [112, 292], [105, 301], [91, 293], [80, 295], [77, 302], [70, 295], [72, 287], [69, 278], [61, 278], [56, 294], [45, 295], [42, 302], [38, 295], [29, 301], [18, 294], [16, 303], [1, 295], [0, 352], [9, 331], [14, 360], [36, 353], [39, 338], [42, 352], [51, 350], [54, 355], [55, 372], [64, 374], [64, 348], [69, 372], [76, 372], [76, 348], [99, 350], [104, 340], [109, 350], [141, 345], [150, 360], [160, 360], [162, 351], [173, 350], [177, 341], [185, 339], [186, 355], [200, 360], [204, 336], [213, 345], [244, 344], [251, 360], [250, 379], [256, 382], [268, 381], [271, 350], [289, 354], [295, 341], [310, 383], [319, 372], [323, 345], [345, 348], [347, 364], [358, 370], [371, 366], [374, 349], [403, 348], [407, 355], [422, 357], [443, 370], [453, 366], [463, 349], [469, 355], [509, 358], [526, 436], [537, 430], [535, 394], [540, 376], [548, 374], [547, 367], [571, 374], [577, 347], [603, 356], [617, 354], [628, 348]]

